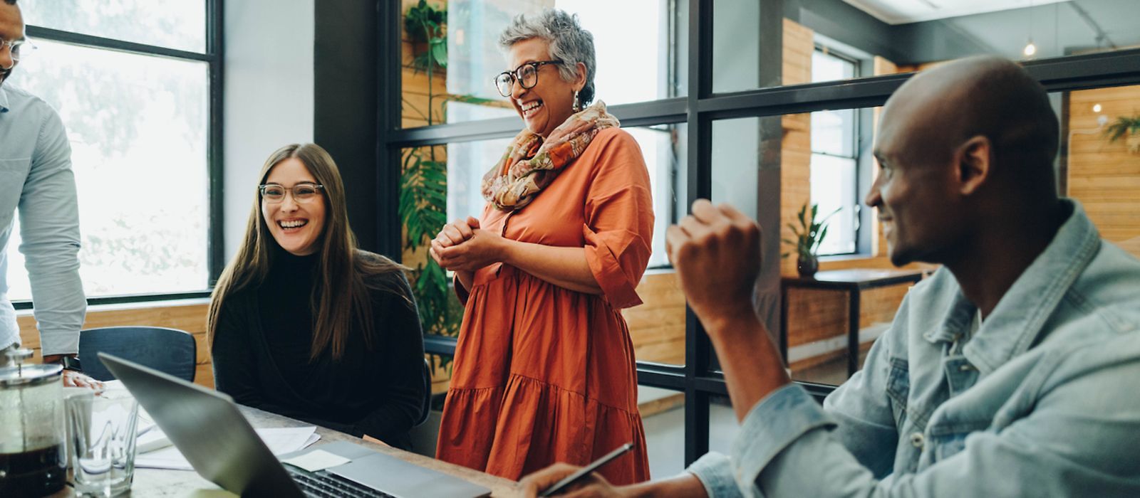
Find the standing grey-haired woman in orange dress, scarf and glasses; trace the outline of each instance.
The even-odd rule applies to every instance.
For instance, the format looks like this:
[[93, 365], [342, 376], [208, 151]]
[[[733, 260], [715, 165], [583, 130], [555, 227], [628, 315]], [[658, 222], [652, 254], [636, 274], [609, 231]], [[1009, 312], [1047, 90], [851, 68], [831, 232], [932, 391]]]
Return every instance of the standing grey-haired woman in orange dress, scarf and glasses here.
[[465, 304], [437, 458], [508, 479], [556, 462], [649, 479], [637, 376], [620, 309], [640, 305], [653, 204], [637, 142], [594, 98], [594, 39], [545, 10], [503, 32], [499, 93], [526, 123], [483, 177], [482, 217], [431, 256]]

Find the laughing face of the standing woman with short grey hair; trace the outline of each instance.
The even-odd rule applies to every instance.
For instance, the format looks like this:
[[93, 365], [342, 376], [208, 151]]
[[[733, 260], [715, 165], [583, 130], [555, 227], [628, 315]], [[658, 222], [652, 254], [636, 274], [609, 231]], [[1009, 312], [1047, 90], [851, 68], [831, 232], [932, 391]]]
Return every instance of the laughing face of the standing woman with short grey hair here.
[[[532, 38], [511, 45], [507, 67], [514, 70], [527, 63], [551, 59], [549, 43]], [[524, 89], [514, 82], [511, 103], [531, 133], [545, 139], [573, 114], [573, 93], [585, 83], [585, 66], [579, 67], [578, 73], [581, 81], [568, 82], [559, 74], [557, 65], [546, 64], [538, 66], [538, 83], [534, 88]]]

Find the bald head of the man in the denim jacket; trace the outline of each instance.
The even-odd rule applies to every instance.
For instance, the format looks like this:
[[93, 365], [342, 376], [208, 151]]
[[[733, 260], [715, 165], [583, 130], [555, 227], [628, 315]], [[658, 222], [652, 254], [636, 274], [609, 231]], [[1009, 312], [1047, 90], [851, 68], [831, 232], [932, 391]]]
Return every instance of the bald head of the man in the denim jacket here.
[[1044, 88], [1005, 59], [956, 60], [903, 84], [882, 110], [866, 198], [891, 262], [969, 259], [987, 234], [1052, 213], [1057, 134]]

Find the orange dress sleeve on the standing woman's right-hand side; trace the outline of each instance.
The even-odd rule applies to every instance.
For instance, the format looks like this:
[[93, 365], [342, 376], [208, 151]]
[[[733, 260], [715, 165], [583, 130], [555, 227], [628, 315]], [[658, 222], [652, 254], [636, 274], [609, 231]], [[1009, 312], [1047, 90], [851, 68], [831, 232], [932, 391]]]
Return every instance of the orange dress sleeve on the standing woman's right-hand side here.
[[628, 132], [604, 130], [595, 141], [601, 148], [586, 192], [586, 260], [605, 300], [614, 308], [629, 308], [642, 304], [636, 288], [652, 250], [649, 171]]

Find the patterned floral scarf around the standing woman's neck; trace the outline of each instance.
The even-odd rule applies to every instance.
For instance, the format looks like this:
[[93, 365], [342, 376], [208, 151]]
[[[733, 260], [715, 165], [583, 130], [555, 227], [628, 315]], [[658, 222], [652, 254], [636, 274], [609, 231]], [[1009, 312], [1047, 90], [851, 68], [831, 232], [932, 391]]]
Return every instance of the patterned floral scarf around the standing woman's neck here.
[[598, 100], [570, 116], [545, 141], [524, 128], [483, 175], [483, 198], [505, 211], [522, 209], [586, 150], [598, 131], [620, 125]]

